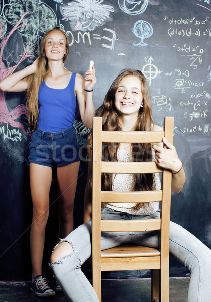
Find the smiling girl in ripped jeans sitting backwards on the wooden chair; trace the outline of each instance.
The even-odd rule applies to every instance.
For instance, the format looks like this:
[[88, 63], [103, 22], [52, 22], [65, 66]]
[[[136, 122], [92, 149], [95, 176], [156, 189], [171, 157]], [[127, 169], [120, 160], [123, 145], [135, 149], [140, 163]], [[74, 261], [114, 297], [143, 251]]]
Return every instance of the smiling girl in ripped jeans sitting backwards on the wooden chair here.
[[[102, 116], [103, 130], [111, 131], [152, 131], [162, 130], [153, 124], [151, 116], [150, 93], [147, 81], [139, 70], [126, 69], [114, 80], [104, 102], [96, 111]], [[175, 147], [165, 138], [160, 145], [148, 145], [138, 152], [137, 145], [119, 144], [116, 148], [103, 146], [103, 158], [116, 161], [140, 161], [151, 158], [163, 168], [172, 171], [172, 191], [180, 192], [185, 182], [182, 162], [178, 158]], [[89, 146], [92, 148], [92, 137], [89, 136]], [[91, 155], [91, 151], [90, 151]], [[91, 157], [90, 157], [91, 158]], [[157, 173], [153, 178], [148, 175], [116, 174], [102, 175], [102, 190], [141, 191], [159, 190], [160, 180]], [[89, 176], [89, 193], [92, 180]], [[90, 194], [89, 194], [90, 195]], [[101, 219], [105, 220], [141, 220], [143, 216], [159, 218], [158, 202], [147, 204], [107, 203], [101, 211]], [[86, 211], [86, 220], [90, 213]], [[89, 219], [87, 218], [89, 216]], [[158, 247], [157, 232], [102, 232], [101, 249], [119, 245], [138, 244]], [[188, 302], [208, 302], [211, 296], [211, 250], [180, 225], [170, 222], [170, 254], [190, 270]], [[72, 302], [94, 301], [98, 297], [90, 282], [81, 271], [81, 265], [91, 255], [91, 221], [80, 225], [56, 246], [50, 266]]]

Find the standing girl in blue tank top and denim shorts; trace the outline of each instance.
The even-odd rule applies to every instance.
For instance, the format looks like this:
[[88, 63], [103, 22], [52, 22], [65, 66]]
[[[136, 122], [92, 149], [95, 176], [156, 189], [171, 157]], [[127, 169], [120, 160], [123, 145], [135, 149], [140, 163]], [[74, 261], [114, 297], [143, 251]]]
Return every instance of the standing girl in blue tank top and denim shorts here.
[[[69, 53], [68, 38], [60, 28], [48, 30], [40, 43], [40, 56], [32, 65], [0, 82], [10, 92], [27, 90], [30, 144], [30, 188], [33, 218], [30, 232], [32, 285], [40, 297], [55, 295], [42, 276], [45, 227], [49, 215], [52, 167], [57, 167], [59, 192], [59, 238], [73, 230], [73, 206], [80, 164], [79, 145], [73, 128], [76, 100], [81, 119], [92, 126], [95, 69], [82, 75], [64, 68]], [[56, 284], [55, 290], [60, 290]]]

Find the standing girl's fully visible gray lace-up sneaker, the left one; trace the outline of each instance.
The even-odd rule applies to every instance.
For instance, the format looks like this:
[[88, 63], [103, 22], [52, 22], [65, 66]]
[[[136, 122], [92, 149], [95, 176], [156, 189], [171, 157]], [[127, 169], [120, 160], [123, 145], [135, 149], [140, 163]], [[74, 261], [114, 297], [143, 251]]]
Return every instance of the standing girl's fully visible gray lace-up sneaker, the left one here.
[[55, 291], [48, 285], [48, 280], [38, 275], [30, 285], [30, 290], [38, 297], [50, 297], [55, 295]]

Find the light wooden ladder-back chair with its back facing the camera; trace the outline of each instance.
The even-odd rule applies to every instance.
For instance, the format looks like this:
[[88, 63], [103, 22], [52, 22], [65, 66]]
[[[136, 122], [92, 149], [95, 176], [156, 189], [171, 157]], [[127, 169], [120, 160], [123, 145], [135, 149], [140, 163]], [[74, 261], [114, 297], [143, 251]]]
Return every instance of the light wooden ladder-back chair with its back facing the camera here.
[[[101, 271], [152, 270], [152, 302], [169, 302], [169, 223], [171, 171], [155, 162], [102, 161], [102, 142], [157, 143], [162, 138], [173, 144], [173, 117], [165, 117], [164, 131], [102, 131], [102, 118], [93, 119], [92, 265], [93, 287], [101, 302]], [[162, 189], [144, 192], [101, 191], [101, 173], [162, 173]], [[160, 219], [140, 221], [101, 220], [102, 202], [143, 203], [160, 201]], [[160, 230], [159, 249], [118, 246], [101, 251], [101, 231], [136, 232]]]

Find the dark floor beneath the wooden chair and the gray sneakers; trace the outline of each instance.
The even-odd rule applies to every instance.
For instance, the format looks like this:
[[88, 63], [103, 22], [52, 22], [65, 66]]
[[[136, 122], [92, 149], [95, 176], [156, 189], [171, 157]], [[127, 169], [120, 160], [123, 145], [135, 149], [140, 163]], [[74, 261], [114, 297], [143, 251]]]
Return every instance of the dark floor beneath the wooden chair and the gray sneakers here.
[[[170, 278], [170, 302], [186, 302], [189, 278]], [[52, 285], [52, 282], [50, 282]], [[151, 279], [102, 281], [102, 302], [151, 302]], [[40, 299], [29, 290], [29, 282], [0, 282], [0, 302], [68, 302], [63, 293]], [[81, 301], [86, 302], [86, 301]]]

